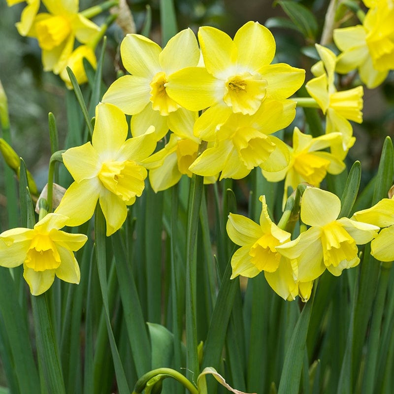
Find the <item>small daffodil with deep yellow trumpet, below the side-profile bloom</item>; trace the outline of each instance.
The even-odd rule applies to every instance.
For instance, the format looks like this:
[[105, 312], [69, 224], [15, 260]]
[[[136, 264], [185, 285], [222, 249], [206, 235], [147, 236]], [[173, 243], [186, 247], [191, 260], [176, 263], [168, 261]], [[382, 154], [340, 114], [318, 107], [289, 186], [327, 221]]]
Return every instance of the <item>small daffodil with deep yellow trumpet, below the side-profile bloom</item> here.
[[313, 138], [312, 135], [304, 134], [297, 127], [294, 128], [289, 165], [277, 172], [263, 170], [263, 175], [269, 182], [279, 182], [285, 179], [283, 204], [287, 200], [289, 187], [295, 190], [303, 182], [319, 187], [327, 173], [336, 175], [345, 169], [346, 166], [342, 160], [329, 152], [321, 152], [341, 142], [342, 135], [338, 132]]

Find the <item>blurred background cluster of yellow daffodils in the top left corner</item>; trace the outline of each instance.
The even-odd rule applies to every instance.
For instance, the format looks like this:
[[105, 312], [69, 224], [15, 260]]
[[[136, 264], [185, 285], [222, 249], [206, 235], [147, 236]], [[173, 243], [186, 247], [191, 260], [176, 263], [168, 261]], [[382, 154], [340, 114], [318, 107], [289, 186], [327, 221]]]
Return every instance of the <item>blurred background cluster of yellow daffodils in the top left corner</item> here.
[[[9, 6], [21, 2], [25, 1], [7, 0]], [[46, 12], [38, 12], [40, 3]], [[44, 71], [59, 74], [71, 89], [66, 66], [71, 68], [78, 84], [87, 81], [83, 59], [96, 68], [95, 48], [106, 25], [100, 28], [80, 12], [78, 0], [27, 0], [16, 28], [21, 35], [37, 39]]]

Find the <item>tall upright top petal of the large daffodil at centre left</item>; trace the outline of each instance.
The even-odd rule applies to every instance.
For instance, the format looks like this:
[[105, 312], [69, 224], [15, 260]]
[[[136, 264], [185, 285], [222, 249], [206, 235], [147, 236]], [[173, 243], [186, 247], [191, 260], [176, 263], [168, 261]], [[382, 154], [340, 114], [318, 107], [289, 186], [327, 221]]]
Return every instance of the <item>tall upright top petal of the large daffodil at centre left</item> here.
[[100, 159], [112, 159], [125, 142], [128, 130], [129, 126], [122, 110], [113, 104], [103, 102], [96, 106], [92, 145]]

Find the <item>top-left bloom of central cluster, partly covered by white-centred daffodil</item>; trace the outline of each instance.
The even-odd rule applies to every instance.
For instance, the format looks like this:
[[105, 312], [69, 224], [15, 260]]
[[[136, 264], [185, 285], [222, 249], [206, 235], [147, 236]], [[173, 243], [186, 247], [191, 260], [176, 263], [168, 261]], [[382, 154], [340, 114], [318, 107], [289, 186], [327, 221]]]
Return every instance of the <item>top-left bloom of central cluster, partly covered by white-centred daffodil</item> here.
[[143, 134], [154, 125], [158, 140], [168, 129], [182, 132], [196, 114], [181, 107], [166, 91], [168, 78], [175, 71], [197, 66], [200, 51], [196, 36], [185, 29], [173, 36], [162, 48], [139, 34], [128, 34], [120, 47], [123, 66], [131, 73], [117, 79], [102, 101], [115, 104], [125, 114], [133, 115], [133, 136]]

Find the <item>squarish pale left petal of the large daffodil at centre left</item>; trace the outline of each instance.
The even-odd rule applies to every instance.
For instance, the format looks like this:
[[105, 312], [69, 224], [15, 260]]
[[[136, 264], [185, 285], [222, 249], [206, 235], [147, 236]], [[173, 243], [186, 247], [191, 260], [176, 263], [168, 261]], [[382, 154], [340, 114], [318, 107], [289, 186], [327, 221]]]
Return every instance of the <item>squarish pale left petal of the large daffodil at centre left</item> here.
[[62, 158], [67, 170], [77, 182], [93, 178], [99, 173], [99, 155], [90, 142], [67, 149]]

